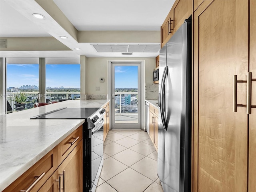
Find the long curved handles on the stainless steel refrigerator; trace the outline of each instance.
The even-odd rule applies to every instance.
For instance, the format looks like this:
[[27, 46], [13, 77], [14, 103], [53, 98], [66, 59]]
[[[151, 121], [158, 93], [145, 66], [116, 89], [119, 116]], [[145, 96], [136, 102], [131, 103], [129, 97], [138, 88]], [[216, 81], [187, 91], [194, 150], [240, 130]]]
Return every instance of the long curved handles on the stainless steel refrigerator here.
[[166, 120], [164, 116], [164, 109], [165, 109], [165, 81], [166, 81], [166, 76], [168, 72], [168, 66], [164, 67], [164, 75], [162, 77], [162, 82], [161, 82], [161, 90], [160, 90], [160, 113], [161, 113], [161, 119], [162, 123], [164, 126], [164, 130], [167, 130], [166, 126]]

